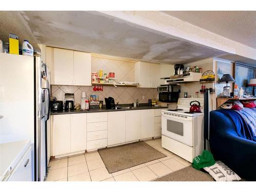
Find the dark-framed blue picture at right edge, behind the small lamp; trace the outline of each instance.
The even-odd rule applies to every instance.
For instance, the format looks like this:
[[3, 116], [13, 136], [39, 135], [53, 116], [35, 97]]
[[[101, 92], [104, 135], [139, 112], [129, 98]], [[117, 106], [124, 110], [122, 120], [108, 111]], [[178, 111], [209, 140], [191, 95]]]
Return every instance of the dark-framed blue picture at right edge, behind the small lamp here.
[[234, 79], [239, 89], [243, 88], [245, 94], [252, 94], [252, 87], [248, 86], [248, 82], [255, 77], [256, 68], [239, 62], [234, 63]]

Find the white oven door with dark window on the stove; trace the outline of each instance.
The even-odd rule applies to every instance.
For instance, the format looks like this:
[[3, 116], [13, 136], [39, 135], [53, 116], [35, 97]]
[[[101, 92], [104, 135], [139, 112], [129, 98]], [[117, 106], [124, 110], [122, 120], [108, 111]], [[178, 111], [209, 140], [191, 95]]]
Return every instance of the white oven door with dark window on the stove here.
[[162, 135], [193, 147], [194, 118], [162, 112]]

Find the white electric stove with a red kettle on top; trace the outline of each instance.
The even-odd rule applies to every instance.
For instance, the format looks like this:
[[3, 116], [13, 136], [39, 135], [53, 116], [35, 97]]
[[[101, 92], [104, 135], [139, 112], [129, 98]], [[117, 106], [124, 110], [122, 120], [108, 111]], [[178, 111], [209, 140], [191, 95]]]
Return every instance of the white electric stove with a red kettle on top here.
[[[200, 102], [201, 113], [189, 112], [191, 101]], [[203, 151], [203, 106], [204, 99], [179, 98], [176, 110], [162, 110], [162, 147], [193, 162]]]

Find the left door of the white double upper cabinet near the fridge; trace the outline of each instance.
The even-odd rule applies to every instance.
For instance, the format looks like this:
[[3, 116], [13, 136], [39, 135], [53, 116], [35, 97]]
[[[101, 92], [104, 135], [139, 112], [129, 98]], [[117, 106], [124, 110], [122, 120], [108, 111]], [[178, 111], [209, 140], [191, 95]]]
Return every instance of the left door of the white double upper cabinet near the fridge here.
[[74, 85], [74, 51], [54, 48], [54, 84]]

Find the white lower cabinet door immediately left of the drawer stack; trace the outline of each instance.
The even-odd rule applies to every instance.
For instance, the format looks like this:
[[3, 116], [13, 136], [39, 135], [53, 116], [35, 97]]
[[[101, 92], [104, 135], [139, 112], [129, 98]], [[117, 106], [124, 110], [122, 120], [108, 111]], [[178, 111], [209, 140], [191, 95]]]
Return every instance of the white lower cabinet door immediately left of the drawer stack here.
[[71, 153], [86, 150], [87, 114], [71, 115], [70, 147]]

